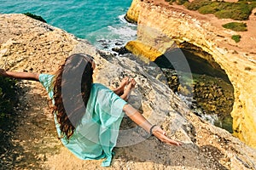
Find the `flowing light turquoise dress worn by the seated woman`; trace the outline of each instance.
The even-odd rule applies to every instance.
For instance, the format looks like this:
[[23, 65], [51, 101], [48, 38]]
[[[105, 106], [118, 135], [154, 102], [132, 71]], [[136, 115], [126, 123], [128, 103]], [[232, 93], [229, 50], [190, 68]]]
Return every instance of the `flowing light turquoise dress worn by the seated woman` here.
[[[46, 88], [54, 103], [51, 85], [53, 79], [53, 75], [39, 75], [39, 82]], [[102, 167], [108, 167], [112, 160], [113, 147], [118, 138], [119, 126], [124, 116], [125, 104], [127, 104], [125, 100], [119, 98], [109, 88], [99, 83], [93, 83], [90, 99], [86, 105], [86, 113], [69, 140], [63, 137], [56, 114], [54, 115], [57, 133], [60, 138], [62, 136], [62, 144], [83, 160], [107, 158], [102, 161]]]

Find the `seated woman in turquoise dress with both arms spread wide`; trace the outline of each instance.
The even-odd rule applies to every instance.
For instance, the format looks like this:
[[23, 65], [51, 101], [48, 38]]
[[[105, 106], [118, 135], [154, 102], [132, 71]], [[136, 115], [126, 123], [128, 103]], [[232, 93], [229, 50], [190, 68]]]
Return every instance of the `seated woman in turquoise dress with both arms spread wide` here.
[[[61, 142], [81, 159], [107, 158], [102, 166], [110, 165], [124, 112], [133, 122], [162, 142], [180, 145], [167, 138], [159, 126], [152, 125], [126, 103], [127, 95], [134, 88], [134, 80], [128, 83], [125, 78], [119, 88], [112, 91], [102, 84], [93, 83], [95, 67], [89, 55], [73, 54], [61, 65], [55, 76], [3, 69], [0, 69], [0, 75], [43, 84], [53, 102], [55, 126]], [[124, 90], [125, 85], [127, 90]]]

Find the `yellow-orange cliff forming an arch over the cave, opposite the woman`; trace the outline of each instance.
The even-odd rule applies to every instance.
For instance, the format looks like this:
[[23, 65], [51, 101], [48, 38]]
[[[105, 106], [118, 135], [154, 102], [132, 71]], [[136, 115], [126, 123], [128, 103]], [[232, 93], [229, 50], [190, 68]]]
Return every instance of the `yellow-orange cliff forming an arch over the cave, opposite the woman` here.
[[[212, 58], [224, 69], [235, 89], [233, 116], [234, 135], [246, 144], [256, 147], [256, 46], [255, 20], [252, 14], [247, 22], [247, 32], [225, 30], [222, 25], [232, 20], [218, 20], [211, 14], [203, 15], [181, 6], [171, 6], [165, 1], [134, 0], [126, 18], [138, 23], [137, 41], [128, 42], [126, 48], [140, 54], [140, 48], [147, 46], [154, 50], [144, 52], [154, 60], [166, 47], [155, 44], [168, 37], [177, 43], [189, 42]], [[146, 31], [148, 28], [151, 31]], [[152, 32], [159, 32], [156, 36]], [[241, 42], [231, 40], [232, 35], [240, 34]], [[187, 43], [188, 44], [188, 43]], [[150, 48], [150, 49], [151, 49]], [[170, 48], [170, 46], [169, 46]], [[160, 49], [157, 53], [155, 49]], [[153, 55], [153, 56], [152, 56]]]

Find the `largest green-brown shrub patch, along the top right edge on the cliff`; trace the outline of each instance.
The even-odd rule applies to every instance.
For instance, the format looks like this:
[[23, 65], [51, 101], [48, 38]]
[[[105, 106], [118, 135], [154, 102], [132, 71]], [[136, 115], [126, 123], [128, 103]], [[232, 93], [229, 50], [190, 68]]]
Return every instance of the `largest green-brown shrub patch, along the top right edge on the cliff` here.
[[198, 10], [201, 14], [215, 14], [219, 19], [248, 20], [256, 1], [239, 1], [228, 3], [223, 1], [195, 0], [184, 3], [189, 10]]

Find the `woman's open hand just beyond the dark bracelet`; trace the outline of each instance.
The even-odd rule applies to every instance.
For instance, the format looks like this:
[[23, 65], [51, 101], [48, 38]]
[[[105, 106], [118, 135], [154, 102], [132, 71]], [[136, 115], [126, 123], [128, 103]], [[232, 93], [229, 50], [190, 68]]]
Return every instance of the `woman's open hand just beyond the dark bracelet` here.
[[180, 142], [177, 142], [175, 140], [172, 140], [166, 137], [166, 132], [163, 129], [161, 129], [161, 127], [159, 126], [153, 127], [152, 133], [157, 139], [160, 139], [160, 141], [166, 144], [182, 145]]

